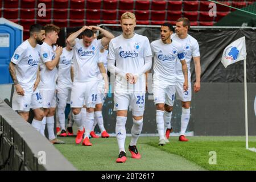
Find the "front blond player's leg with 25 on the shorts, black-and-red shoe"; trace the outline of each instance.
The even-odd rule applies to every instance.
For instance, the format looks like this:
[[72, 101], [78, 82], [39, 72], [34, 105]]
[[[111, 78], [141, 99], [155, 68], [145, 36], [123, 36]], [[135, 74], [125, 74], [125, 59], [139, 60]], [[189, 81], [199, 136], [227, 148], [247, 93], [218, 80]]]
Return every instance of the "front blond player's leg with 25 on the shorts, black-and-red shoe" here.
[[131, 127], [131, 142], [129, 144], [129, 151], [131, 158], [141, 159], [137, 149], [137, 141], [141, 135], [143, 127], [143, 113], [145, 107], [145, 93], [131, 94], [131, 109], [133, 110], [133, 126]]

